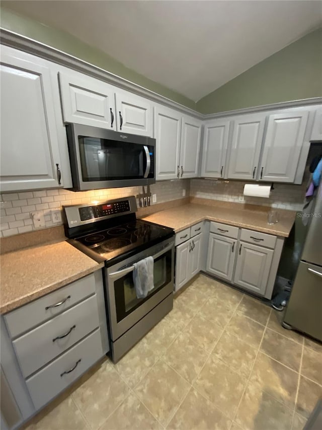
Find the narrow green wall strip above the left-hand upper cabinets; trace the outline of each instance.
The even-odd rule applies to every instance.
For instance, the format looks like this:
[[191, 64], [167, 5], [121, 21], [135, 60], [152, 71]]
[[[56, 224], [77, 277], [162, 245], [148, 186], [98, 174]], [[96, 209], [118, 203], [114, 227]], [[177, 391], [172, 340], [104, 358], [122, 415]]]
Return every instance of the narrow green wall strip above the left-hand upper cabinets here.
[[184, 106], [196, 109], [196, 103], [188, 97], [128, 69], [122, 63], [100, 49], [94, 48], [66, 32], [48, 27], [30, 18], [20, 16], [5, 8], [1, 8], [0, 22], [2, 28], [67, 52], [108, 72], [125, 78], [128, 81], [154, 91], [157, 94], [161, 94], [171, 100], [181, 103]]

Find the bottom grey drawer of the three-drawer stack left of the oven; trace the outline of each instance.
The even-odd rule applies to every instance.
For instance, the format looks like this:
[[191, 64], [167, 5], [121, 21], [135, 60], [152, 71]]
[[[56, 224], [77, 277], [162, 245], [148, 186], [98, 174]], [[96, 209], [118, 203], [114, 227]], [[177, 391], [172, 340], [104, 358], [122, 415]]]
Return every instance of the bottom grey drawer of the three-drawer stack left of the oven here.
[[48, 403], [102, 356], [98, 329], [29, 378], [26, 384], [35, 408]]

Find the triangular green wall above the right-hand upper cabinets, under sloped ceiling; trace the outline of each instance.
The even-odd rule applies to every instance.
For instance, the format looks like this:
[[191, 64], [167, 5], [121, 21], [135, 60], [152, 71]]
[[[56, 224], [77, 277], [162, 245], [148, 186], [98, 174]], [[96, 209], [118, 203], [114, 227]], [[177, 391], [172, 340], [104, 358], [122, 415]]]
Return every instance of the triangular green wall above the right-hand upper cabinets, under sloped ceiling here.
[[322, 96], [322, 29], [313, 31], [197, 102], [202, 113], [223, 112]]

